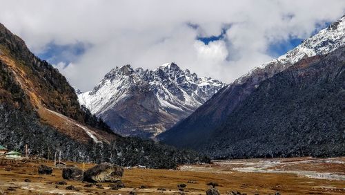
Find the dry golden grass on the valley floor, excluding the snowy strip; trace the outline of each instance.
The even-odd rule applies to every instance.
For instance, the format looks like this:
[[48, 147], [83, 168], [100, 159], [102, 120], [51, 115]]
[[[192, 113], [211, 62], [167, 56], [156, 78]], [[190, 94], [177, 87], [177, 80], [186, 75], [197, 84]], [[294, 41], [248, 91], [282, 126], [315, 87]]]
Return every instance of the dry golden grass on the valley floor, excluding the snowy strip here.
[[[0, 161], [0, 194], [128, 194], [131, 191], [137, 194], [179, 194], [177, 185], [185, 183], [185, 194], [206, 194], [208, 186], [206, 183], [215, 182], [221, 194], [236, 190], [246, 194], [344, 194], [345, 181], [313, 179], [296, 174], [277, 173], [244, 173], [234, 171], [230, 167], [215, 165], [193, 165], [187, 170], [166, 170], [166, 169], [125, 169], [122, 181], [126, 188], [119, 190], [108, 189], [109, 183], [102, 183], [105, 189], [96, 187], [83, 187], [86, 183], [66, 180], [68, 185], [74, 185], [79, 191], [66, 190], [67, 185], [56, 185], [63, 180], [61, 169], [54, 169], [51, 176], [37, 174], [39, 164], [52, 166], [48, 162], [1, 163]], [[71, 163], [82, 168], [81, 163]], [[86, 169], [92, 167], [86, 164]], [[292, 169], [290, 167], [290, 169]], [[298, 167], [300, 169], [300, 167]], [[321, 167], [321, 169], [323, 169]], [[344, 170], [343, 170], [344, 173]], [[30, 179], [27, 183], [24, 180]], [[188, 183], [188, 180], [195, 180], [196, 183]], [[58, 188], [55, 188], [57, 186]], [[144, 189], [140, 189], [144, 186]], [[9, 191], [9, 187], [15, 191]], [[165, 188], [166, 191], [158, 191], [157, 188]]]

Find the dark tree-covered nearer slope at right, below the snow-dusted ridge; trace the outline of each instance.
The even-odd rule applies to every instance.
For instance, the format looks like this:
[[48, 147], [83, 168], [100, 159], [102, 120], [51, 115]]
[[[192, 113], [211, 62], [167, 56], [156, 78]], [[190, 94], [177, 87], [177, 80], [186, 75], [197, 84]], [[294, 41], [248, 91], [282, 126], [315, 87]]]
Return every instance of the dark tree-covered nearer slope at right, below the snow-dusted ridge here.
[[302, 59], [260, 83], [202, 150], [213, 158], [344, 156], [344, 89], [344, 47]]

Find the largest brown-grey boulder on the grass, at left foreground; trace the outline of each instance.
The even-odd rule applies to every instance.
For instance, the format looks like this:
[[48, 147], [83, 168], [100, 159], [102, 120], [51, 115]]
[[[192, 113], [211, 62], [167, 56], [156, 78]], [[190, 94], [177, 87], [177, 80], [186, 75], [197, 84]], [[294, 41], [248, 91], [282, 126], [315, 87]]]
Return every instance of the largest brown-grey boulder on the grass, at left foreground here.
[[124, 175], [124, 169], [111, 163], [101, 163], [84, 172], [83, 180], [90, 183], [118, 182]]

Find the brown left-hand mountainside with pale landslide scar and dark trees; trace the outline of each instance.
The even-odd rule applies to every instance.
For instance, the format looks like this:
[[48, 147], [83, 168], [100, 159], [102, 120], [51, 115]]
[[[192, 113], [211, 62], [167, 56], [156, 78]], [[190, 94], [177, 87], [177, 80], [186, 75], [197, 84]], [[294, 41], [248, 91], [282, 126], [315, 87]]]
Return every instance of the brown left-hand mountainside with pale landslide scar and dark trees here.
[[157, 168], [208, 161], [193, 151], [112, 133], [79, 105], [74, 89], [56, 68], [35, 57], [2, 24], [0, 119], [1, 145], [23, 152], [28, 144], [32, 156], [52, 158], [61, 151], [63, 160]]

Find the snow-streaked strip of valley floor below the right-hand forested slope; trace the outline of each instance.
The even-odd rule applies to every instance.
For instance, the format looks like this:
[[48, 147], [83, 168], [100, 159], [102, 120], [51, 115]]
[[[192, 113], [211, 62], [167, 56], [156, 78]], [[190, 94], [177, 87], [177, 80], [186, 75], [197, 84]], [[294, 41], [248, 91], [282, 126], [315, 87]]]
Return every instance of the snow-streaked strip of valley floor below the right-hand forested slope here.
[[180, 169], [227, 174], [231, 174], [233, 171], [297, 174], [297, 176], [306, 176], [308, 178], [345, 180], [345, 157], [215, 160], [213, 165], [184, 165]]

